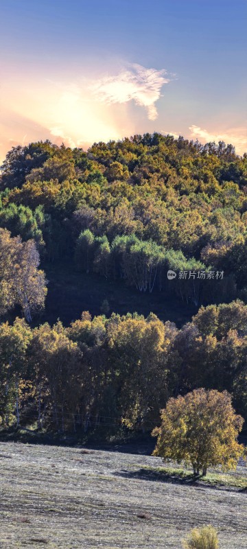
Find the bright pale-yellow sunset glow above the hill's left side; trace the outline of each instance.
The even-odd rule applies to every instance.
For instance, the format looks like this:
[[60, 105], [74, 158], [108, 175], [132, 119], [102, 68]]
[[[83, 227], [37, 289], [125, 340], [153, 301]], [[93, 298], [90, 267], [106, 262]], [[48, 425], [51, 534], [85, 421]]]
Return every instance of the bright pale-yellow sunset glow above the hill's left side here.
[[87, 147], [96, 140], [121, 137], [110, 108], [92, 99], [85, 84], [47, 80], [40, 82], [30, 95], [21, 83], [17, 102], [10, 91], [6, 95], [8, 115], [1, 119], [0, 125], [1, 158], [12, 144], [23, 141], [26, 144], [35, 139], [50, 139], [71, 147]]

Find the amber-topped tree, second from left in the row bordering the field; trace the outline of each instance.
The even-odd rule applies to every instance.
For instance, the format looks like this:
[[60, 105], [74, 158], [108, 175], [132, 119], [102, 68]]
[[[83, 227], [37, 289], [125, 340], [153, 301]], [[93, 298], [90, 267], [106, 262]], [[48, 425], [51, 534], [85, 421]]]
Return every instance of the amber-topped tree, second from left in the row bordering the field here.
[[82, 352], [71, 341], [62, 323], [48, 323], [34, 329], [32, 366], [35, 376], [34, 395], [38, 405], [38, 426], [42, 427], [45, 408], [53, 411], [59, 432], [75, 421], [75, 412], [84, 388]]

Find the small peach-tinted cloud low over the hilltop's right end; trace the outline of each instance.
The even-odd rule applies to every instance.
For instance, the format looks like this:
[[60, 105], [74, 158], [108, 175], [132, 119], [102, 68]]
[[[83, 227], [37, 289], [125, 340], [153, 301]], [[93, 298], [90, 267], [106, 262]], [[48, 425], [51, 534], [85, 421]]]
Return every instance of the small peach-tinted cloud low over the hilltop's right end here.
[[235, 146], [237, 154], [244, 154], [247, 151], [247, 132], [246, 128], [230, 128], [229, 130], [224, 130], [223, 132], [209, 132], [200, 126], [189, 126], [191, 132], [191, 137], [194, 139], [199, 139], [202, 143], [209, 143], [210, 141], [224, 141], [225, 143], [231, 143]]

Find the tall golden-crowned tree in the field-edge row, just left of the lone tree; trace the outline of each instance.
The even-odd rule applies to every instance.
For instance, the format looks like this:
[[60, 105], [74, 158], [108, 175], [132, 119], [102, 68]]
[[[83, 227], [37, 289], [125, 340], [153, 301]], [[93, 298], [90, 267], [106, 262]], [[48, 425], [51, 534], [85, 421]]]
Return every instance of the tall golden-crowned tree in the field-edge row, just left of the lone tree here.
[[119, 383], [119, 407], [128, 428], [156, 421], [167, 401], [166, 327], [154, 314], [122, 317], [108, 326], [111, 360]]

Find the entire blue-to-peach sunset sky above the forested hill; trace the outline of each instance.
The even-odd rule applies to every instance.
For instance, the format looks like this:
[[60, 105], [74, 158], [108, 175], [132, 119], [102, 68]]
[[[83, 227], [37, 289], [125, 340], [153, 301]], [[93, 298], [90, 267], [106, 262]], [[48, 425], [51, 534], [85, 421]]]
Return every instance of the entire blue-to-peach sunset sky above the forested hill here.
[[0, 161], [145, 132], [247, 151], [246, 0], [0, 0]]

